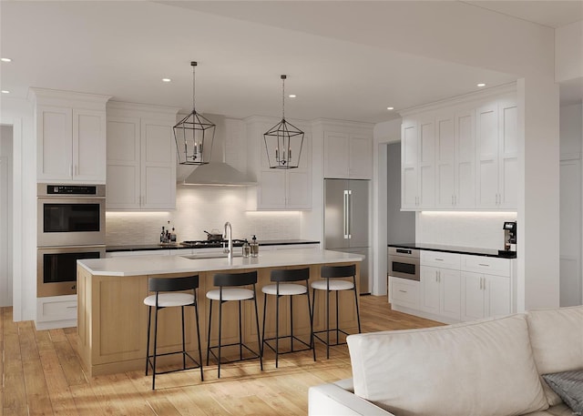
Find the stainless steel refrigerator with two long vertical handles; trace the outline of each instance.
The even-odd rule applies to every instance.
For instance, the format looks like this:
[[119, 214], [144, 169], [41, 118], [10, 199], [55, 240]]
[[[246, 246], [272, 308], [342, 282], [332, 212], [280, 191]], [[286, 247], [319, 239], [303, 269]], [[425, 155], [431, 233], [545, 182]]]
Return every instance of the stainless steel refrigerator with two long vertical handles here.
[[361, 293], [370, 293], [369, 188], [370, 180], [324, 179], [324, 249], [365, 256]]

